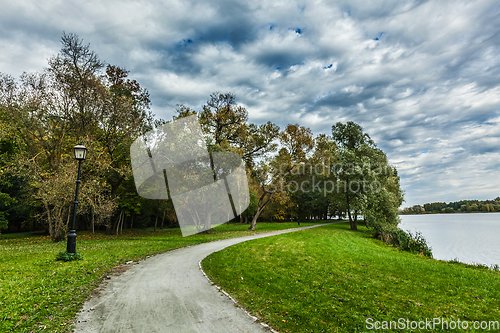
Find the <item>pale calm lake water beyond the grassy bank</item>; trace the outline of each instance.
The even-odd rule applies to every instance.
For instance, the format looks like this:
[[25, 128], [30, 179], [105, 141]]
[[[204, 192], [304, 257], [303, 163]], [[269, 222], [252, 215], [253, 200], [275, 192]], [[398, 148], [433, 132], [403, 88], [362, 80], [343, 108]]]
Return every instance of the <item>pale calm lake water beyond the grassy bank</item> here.
[[500, 213], [400, 215], [403, 230], [420, 231], [435, 259], [500, 265]]

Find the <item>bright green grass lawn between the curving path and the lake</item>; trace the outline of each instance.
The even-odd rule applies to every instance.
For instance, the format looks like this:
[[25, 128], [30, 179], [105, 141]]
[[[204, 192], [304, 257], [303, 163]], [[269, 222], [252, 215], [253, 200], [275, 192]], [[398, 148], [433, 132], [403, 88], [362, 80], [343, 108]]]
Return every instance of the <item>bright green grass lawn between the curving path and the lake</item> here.
[[371, 326], [400, 318], [405, 325], [426, 318], [443, 318], [448, 325], [500, 321], [499, 272], [399, 252], [366, 229], [348, 228], [337, 224], [237, 244], [205, 258], [203, 269], [279, 332], [441, 328]]

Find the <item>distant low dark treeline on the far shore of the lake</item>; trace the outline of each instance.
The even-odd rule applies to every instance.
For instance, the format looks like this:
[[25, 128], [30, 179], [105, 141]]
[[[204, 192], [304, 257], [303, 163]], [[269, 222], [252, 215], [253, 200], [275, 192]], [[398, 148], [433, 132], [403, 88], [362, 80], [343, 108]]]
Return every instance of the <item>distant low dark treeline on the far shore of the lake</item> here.
[[456, 202], [433, 202], [423, 206], [405, 207], [400, 214], [429, 214], [429, 213], [471, 213], [471, 212], [500, 212], [500, 197], [493, 200], [461, 200]]

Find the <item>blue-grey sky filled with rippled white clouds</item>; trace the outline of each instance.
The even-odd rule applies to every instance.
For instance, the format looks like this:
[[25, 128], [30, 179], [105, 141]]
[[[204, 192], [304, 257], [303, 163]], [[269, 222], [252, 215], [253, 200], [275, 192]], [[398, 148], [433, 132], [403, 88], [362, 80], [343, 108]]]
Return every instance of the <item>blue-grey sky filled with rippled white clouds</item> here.
[[[335, 4], [333, 4], [335, 3]], [[498, 1], [2, 1], [0, 72], [40, 71], [78, 34], [157, 117], [232, 92], [250, 121], [365, 129], [403, 206], [500, 196]]]

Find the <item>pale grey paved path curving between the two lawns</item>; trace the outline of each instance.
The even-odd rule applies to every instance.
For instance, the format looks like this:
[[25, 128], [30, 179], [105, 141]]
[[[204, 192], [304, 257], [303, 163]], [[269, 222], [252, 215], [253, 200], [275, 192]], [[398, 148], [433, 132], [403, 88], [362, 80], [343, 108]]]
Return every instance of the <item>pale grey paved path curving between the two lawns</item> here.
[[320, 225], [204, 243], [143, 260], [85, 302], [75, 332], [266, 332], [203, 276], [199, 261], [233, 244]]

